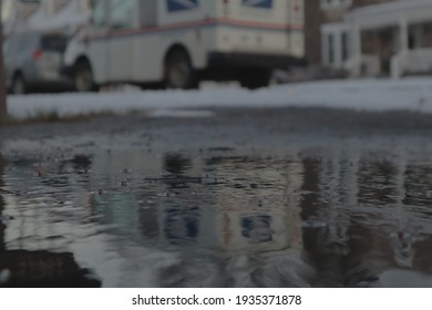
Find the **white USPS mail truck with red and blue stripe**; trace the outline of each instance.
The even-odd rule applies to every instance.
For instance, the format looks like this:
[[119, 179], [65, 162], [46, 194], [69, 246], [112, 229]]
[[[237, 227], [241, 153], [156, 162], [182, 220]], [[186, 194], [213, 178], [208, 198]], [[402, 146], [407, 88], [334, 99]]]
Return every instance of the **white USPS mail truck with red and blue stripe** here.
[[96, 0], [64, 62], [78, 91], [110, 83], [256, 89], [304, 59], [304, 0]]

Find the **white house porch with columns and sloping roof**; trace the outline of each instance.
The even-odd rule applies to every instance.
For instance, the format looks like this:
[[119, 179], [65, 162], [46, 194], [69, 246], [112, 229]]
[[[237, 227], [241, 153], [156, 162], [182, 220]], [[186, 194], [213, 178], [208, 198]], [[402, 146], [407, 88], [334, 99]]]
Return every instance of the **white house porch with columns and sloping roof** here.
[[432, 73], [432, 1], [399, 0], [346, 16], [353, 76]]

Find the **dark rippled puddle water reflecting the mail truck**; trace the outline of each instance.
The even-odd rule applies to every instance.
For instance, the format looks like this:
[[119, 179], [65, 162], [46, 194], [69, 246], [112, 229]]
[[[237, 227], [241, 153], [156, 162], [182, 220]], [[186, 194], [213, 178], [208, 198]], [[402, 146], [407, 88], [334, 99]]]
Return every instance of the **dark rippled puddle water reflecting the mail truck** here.
[[4, 143], [0, 285], [432, 287], [426, 142]]

